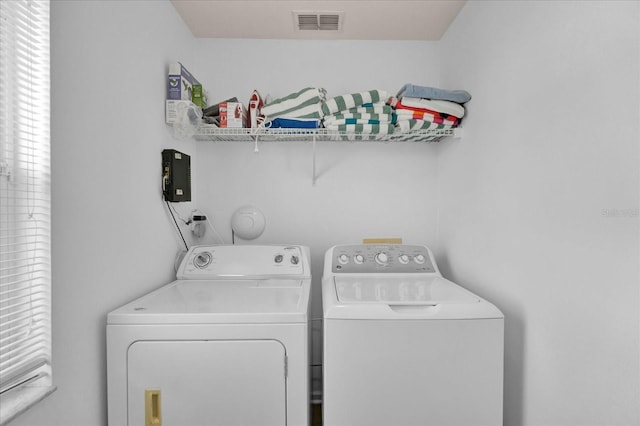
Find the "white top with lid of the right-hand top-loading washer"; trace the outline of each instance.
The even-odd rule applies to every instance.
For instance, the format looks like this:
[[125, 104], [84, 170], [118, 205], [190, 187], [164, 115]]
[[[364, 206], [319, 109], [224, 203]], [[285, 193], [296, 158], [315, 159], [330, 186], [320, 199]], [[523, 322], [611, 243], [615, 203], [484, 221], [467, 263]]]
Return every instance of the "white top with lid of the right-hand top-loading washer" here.
[[333, 276], [324, 298], [331, 319], [500, 318], [492, 304], [438, 275]]

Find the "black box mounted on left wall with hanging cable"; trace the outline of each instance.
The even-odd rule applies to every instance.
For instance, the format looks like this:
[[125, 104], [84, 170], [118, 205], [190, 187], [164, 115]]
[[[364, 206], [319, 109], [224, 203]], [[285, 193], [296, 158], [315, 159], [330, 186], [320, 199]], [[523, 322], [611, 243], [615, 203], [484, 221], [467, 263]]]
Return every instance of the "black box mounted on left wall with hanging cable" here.
[[191, 157], [175, 149], [162, 151], [162, 194], [170, 202], [191, 201]]

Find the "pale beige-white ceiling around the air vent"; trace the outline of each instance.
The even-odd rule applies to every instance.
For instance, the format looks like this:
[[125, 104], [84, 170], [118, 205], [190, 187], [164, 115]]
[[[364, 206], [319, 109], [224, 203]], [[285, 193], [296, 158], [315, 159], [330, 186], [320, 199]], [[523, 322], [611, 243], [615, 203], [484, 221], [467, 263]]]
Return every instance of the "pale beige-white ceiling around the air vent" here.
[[[465, 0], [171, 0], [195, 37], [440, 40]], [[298, 31], [294, 11], [344, 12], [342, 31]]]

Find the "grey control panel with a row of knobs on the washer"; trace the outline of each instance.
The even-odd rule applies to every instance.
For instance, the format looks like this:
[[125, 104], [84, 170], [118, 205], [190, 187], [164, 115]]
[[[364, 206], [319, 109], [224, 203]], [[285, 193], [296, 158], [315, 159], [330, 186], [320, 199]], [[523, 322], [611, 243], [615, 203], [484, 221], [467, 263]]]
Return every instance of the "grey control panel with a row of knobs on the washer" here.
[[425, 246], [407, 244], [359, 244], [335, 246], [334, 273], [431, 273], [435, 262]]

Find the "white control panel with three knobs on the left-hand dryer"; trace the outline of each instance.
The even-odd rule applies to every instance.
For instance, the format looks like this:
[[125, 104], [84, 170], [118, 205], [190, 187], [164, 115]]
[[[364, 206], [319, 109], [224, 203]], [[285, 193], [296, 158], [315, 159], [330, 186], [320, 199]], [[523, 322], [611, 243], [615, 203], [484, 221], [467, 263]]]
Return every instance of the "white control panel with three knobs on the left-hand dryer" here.
[[308, 275], [307, 251], [301, 246], [196, 246], [185, 255], [178, 279]]

